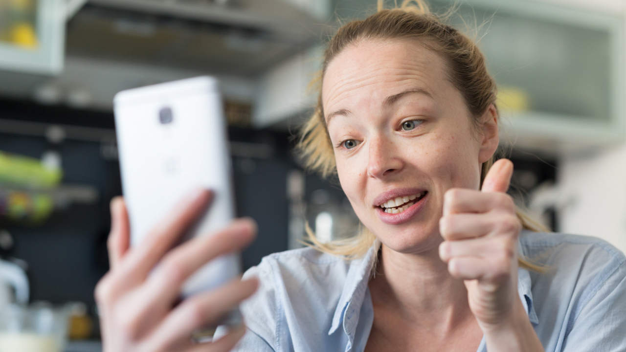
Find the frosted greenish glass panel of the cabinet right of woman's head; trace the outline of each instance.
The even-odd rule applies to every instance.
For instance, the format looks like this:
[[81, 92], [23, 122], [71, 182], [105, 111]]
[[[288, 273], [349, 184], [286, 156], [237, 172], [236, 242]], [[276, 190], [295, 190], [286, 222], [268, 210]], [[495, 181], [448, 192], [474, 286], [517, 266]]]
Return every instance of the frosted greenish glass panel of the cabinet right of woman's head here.
[[[449, 3], [448, 3], [449, 5]], [[479, 46], [498, 83], [503, 112], [541, 112], [576, 120], [611, 120], [613, 28], [577, 18], [515, 9], [459, 6], [454, 26], [478, 29]], [[545, 15], [545, 13], [543, 13]], [[463, 24], [459, 18], [463, 18]], [[476, 31], [476, 29], [474, 29]]]

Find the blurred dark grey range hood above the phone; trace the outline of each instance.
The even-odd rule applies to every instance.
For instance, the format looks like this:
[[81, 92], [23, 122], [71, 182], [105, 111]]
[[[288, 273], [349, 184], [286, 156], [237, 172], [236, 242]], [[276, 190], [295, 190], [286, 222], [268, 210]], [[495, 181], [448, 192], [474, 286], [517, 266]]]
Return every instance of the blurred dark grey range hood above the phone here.
[[90, 0], [66, 53], [254, 77], [319, 43], [321, 22], [294, 0]]

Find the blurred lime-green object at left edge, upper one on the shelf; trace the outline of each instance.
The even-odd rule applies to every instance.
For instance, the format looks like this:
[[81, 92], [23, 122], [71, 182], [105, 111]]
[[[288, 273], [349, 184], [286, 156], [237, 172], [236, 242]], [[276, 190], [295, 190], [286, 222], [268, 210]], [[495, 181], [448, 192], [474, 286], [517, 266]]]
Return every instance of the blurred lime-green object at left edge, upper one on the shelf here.
[[0, 183], [51, 188], [61, 182], [61, 168], [49, 168], [38, 159], [0, 152]]

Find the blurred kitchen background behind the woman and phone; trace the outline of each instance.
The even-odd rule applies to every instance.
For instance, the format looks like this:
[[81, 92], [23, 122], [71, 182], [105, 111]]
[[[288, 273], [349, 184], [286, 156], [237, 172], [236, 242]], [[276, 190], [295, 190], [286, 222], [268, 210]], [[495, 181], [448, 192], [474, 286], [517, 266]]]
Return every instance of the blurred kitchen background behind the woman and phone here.
[[[305, 222], [321, 241], [352, 234], [338, 182], [302, 169], [294, 136], [329, 34], [375, 6], [0, 0], [0, 305], [38, 302], [33, 314], [71, 317], [66, 351], [100, 350], [93, 289], [121, 194], [112, 100], [137, 86], [220, 80], [237, 212], [259, 223], [244, 268], [302, 246]], [[553, 230], [625, 251], [623, 0], [465, 0], [450, 21], [480, 39], [498, 81], [511, 195]]]

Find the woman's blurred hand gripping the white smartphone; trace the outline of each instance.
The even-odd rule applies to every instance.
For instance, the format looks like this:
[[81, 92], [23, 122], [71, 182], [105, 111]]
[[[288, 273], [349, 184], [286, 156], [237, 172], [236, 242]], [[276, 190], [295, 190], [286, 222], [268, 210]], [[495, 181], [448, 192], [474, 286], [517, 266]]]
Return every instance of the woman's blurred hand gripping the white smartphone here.
[[[205, 263], [240, 251], [255, 237], [256, 225], [239, 219], [207, 236], [197, 236], [172, 247], [212, 197], [198, 190], [173, 207], [170, 215], [150, 230], [138, 246], [130, 247], [130, 223], [121, 197], [111, 201], [108, 249], [111, 269], [96, 286], [103, 351], [197, 351], [192, 334], [217, 324], [256, 289], [256, 279], [227, 284], [185, 299], [178, 294], [188, 277]], [[244, 326], [203, 348], [228, 351], [244, 335]]]

